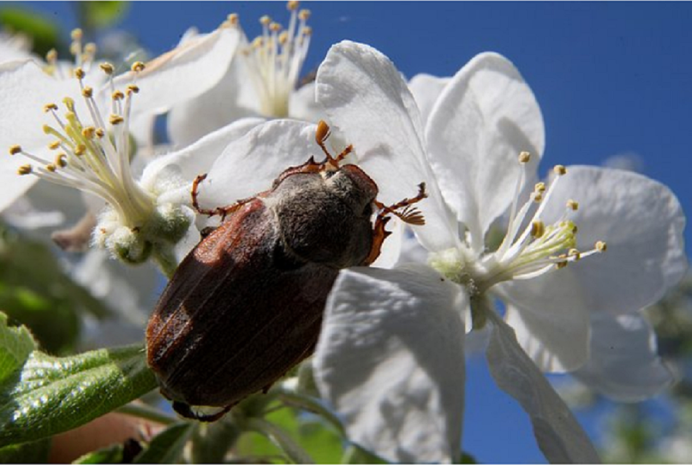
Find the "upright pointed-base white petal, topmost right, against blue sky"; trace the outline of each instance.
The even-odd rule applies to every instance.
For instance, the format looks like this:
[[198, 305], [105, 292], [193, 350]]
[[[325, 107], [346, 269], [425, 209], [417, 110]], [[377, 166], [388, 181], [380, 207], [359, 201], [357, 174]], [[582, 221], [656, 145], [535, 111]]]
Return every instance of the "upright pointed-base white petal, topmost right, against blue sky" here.
[[531, 153], [534, 171], [543, 155], [543, 117], [531, 88], [501, 55], [477, 55], [437, 99], [426, 139], [445, 200], [482, 247], [482, 234], [511, 204], [519, 153]]

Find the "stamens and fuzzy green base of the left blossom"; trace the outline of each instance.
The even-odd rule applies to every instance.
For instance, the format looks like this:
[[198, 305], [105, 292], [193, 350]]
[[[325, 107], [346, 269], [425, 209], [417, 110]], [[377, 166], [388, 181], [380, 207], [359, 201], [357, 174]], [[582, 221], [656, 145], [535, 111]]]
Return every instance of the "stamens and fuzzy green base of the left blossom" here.
[[[133, 178], [130, 159], [135, 148], [128, 125], [132, 98], [139, 89], [135, 84], [129, 84], [125, 91], [116, 89], [113, 66], [104, 63], [100, 68], [109, 84], [104, 89], [110, 92], [107, 113], [102, 112], [104, 105], [98, 104], [94, 89], [84, 84], [86, 72], [75, 68], [83, 102], [78, 105], [65, 97], [62, 115], [57, 104], [44, 106], [55, 120], [55, 124], [43, 126], [44, 133], [55, 137], [48, 145], [56, 153], [53, 160], [24, 151], [19, 145], [10, 147], [10, 154], [21, 154], [35, 162], [19, 167], [20, 175], [37, 175], [93, 193], [107, 202], [93, 231], [97, 245], [127, 263], [141, 263], [153, 252], [162, 267], [171, 269], [172, 247], [188, 231], [194, 213], [185, 205], [159, 203], [161, 186], [143, 186]], [[140, 62], [132, 65], [135, 76], [143, 69]], [[163, 181], [172, 186], [178, 180]]]

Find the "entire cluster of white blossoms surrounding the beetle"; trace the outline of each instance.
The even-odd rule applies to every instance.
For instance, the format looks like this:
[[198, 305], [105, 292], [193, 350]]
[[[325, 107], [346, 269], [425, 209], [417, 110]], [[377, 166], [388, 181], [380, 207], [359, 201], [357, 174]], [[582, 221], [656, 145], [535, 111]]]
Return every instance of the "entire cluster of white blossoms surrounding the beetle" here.
[[[629, 401], [671, 383], [640, 310], [686, 271], [675, 195], [603, 167], [558, 166], [538, 181], [543, 116], [497, 53], [471, 57], [453, 77], [407, 81], [379, 50], [341, 41], [314, 82], [297, 87], [312, 31], [307, 10], [289, 10], [286, 28], [263, 18], [253, 41], [235, 15], [212, 32], [190, 30], [120, 75], [86, 46], [62, 73], [51, 72], [54, 57], [0, 57], [6, 218], [28, 199], [36, 224], [56, 211], [86, 215], [82, 229], [56, 237], [126, 263], [153, 259], [170, 274], [206, 225], [191, 205], [197, 175], [208, 173], [205, 205], [253, 196], [286, 167], [320, 158], [315, 124], [325, 120], [336, 153], [354, 146], [349, 162], [381, 202], [421, 182], [428, 192], [417, 204], [425, 225], [395, 225], [374, 266], [342, 270], [327, 301], [311, 363], [349, 439], [393, 462], [458, 459], [464, 345], [479, 333], [491, 374], [526, 410], [547, 459], [597, 462], [543, 373], [570, 372]], [[153, 146], [164, 113], [170, 145]], [[84, 202], [48, 182], [79, 189]], [[89, 263], [86, 281], [131, 274], [122, 265], [97, 278], [104, 260]], [[152, 279], [137, 279], [150, 289]]]

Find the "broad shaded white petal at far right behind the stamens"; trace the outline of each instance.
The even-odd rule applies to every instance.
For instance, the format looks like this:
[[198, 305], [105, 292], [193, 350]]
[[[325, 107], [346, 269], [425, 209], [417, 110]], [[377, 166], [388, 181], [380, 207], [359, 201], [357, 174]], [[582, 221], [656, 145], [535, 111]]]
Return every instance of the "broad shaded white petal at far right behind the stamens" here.
[[568, 167], [545, 210], [552, 221], [568, 199], [579, 202], [570, 218], [579, 228], [580, 250], [605, 240], [607, 252], [574, 263], [573, 276], [585, 304], [610, 314], [628, 313], [658, 301], [687, 269], [685, 217], [664, 184], [631, 171]]

